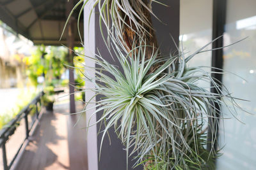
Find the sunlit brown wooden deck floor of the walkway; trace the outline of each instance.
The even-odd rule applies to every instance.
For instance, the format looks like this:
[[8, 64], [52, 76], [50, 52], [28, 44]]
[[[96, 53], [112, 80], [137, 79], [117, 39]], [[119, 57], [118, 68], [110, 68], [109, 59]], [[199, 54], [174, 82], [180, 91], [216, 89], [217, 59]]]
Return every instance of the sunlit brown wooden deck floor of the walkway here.
[[[83, 104], [77, 104], [77, 111]], [[42, 115], [40, 124], [20, 157], [15, 170], [86, 170], [85, 116], [65, 115], [68, 103], [56, 104], [54, 111]]]

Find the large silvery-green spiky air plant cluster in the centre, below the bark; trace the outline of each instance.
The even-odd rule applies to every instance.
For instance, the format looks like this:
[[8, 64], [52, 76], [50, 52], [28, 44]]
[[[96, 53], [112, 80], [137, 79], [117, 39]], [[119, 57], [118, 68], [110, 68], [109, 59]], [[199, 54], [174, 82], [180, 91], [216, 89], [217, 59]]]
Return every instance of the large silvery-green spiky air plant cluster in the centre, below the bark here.
[[[115, 56], [121, 67], [97, 55], [96, 59], [90, 58], [100, 66], [95, 68], [97, 77], [84, 74], [87, 80], [95, 83], [96, 89], [90, 90], [104, 96], [97, 101], [97, 110], [93, 113], [104, 111], [97, 121], [105, 124], [102, 141], [108, 129], [115, 127], [126, 147], [127, 159], [133, 153], [138, 155], [136, 164], [151, 160], [156, 169], [163, 169], [157, 167], [159, 162], [166, 166], [165, 169], [178, 165], [189, 168], [191, 162], [198, 168], [207, 164], [215, 151], [204, 149], [206, 136], [202, 125], [207, 124], [208, 118], [218, 121], [217, 105], [239, 106], [225, 87], [221, 90], [220, 84], [212, 80], [211, 73], [202, 67], [187, 66], [189, 59], [203, 52], [205, 46], [186, 58], [182, 48], [178, 55], [167, 57], [157, 56], [156, 49], [152, 57], [145, 60], [144, 45], [125, 52], [122, 44], [114, 40]], [[159, 63], [163, 64], [159, 66]], [[159, 67], [150, 73], [154, 66]], [[199, 80], [212, 83], [218, 93], [197, 85]], [[230, 109], [231, 114], [232, 111]], [[211, 134], [214, 143], [216, 129], [211, 129]], [[204, 159], [200, 156], [203, 152], [207, 153]]]

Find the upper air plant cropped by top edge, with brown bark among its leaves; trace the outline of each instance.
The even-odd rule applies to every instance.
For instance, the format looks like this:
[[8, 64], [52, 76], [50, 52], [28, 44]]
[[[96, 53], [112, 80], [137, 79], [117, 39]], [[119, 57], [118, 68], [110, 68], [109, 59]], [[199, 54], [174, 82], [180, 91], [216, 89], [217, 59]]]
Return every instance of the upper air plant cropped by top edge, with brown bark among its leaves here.
[[[124, 48], [131, 50], [131, 46], [134, 43], [134, 39], [151, 39], [148, 41], [148, 45], [155, 45], [156, 37], [155, 32], [152, 27], [151, 15], [156, 17], [152, 11], [152, 1], [154, 0], [80, 0], [74, 6], [73, 10], [70, 12], [70, 15], [67, 18], [67, 21], [70, 20], [70, 17], [74, 10], [81, 6], [79, 15], [77, 18], [77, 28], [79, 28], [79, 21], [82, 15], [82, 12], [86, 5], [93, 6], [90, 10], [89, 22], [92, 17], [94, 8], [97, 8], [99, 11], [99, 27], [102, 34], [102, 38], [106, 45], [109, 46], [110, 36], [117, 36], [120, 41], [122, 41]], [[165, 4], [154, 1], [156, 3]], [[157, 17], [156, 17], [157, 18]], [[67, 27], [67, 23], [63, 28], [61, 38], [63, 36], [64, 30]], [[103, 27], [106, 27], [108, 32], [108, 39], [104, 38]], [[83, 45], [83, 38], [81, 37], [81, 32], [77, 29], [79, 37], [81, 39], [81, 44]], [[89, 31], [89, 30], [88, 30]], [[60, 39], [61, 39], [60, 38]], [[138, 40], [140, 43], [140, 40]], [[149, 54], [151, 55], [151, 53]]]

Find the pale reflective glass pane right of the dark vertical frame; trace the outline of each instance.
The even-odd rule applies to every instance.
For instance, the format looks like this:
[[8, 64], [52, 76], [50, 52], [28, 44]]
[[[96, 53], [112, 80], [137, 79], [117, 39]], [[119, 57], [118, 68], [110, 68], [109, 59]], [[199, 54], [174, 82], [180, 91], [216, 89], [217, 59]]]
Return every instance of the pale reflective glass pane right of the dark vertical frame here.
[[[223, 75], [223, 83], [233, 96], [250, 102], [237, 101], [247, 111], [256, 113], [256, 1], [227, 1], [227, 23], [224, 44], [247, 39], [225, 48], [223, 68], [232, 74]], [[227, 108], [223, 108], [224, 117]], [[220, 123], [220, 147], [223, 155], [217, 160], [217, 169], [255, 169], [256, 167], [256, 117], [237, 110], [236, 118]]]

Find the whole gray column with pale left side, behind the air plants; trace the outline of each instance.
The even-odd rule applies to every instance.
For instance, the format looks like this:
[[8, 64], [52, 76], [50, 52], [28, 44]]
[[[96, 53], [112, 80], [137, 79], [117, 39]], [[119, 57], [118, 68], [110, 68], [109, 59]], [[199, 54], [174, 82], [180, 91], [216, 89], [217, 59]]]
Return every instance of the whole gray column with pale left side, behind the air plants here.
[[[166, 54], [170, 52], [174, 52], [175, 45], [172, 42], [172, 39], [170, 38], [170, 34], [172, 34], [173, 38], [175, 39], [175, 42], [179, 43], [179, 0], [172, 0], [172, 1], [166, 1], [164, 2], [168, 5], [161, 6], [160, 4], [153, 4], [153, 10], [154, 13], [161, 19], [161, 21], [164, 23], [159, 22], [156, 18], [152, 17], [154, 28], [156, 29], [156, 35], [157, 40], [159, 42], [161, 52]], [[86, 11], [87, 9], [87, 11]], [[90, 8], [89, 8], [90, 9]], [[104, 44], [104, 41], [102, 40], [102, 36], [100, 34], [99, 29], [99, 13], [97, 13], [97, 8], [95, 9], [95, 18], [91, 19], [90, 24], [90, 33], [88, 34], [88, 20], [86, 16], [88, 17], [88, 8], [84, 8], [84, 41], [85, 48], [90, 49], [90, 53], [87, 54], [93, 54], [95, 51], [99, 49], [100, 53], [102, 54], [102, 57], [104, 59], [108, 60], [110, 63], [115, 63], [111, 59], [111, 56], [109, 55], [109, 52], [106, 48], [106, 45]], [[95, 19], [95, 23], [94, 23]], [[92, 23], [93, 22], [93, 23]], [[95, 28], [93, 28], [93, 24], [95, 24]], [[95, 32], [93, 32], [93, 31]], [[94, 36], [94, 37], [93, 37]], [[88, 38], [90, 41], [88, 42]], [[94, 44], [95, 42], [95, 44]], [[95, 45], [95, 46], [94, 46]], [[94, 48], [94, 49], [93, 49]], [[92, 60], [86, 59], [86, 64], [90, 64], [89, 66], [95, 66], [95, 64], [92, 62]], [[115, 63], [116, 64], [116, 63]], [[117, 64], [118, 65], [118, 64]], [[93, 75], [94, 73], [90, 74]], [[86, 82], [87, 88], [92, 88], [92, 83]], [[86, 92], [86, 101], [90, 99], [94, 94], [92, 92]], [[96, 100], [99, 101], [100, 97], [97, 96]], [[92, 105], [91, 105], [92, 106]], [[90, 108], [90, 107], [89, 107]], [[90, 118], [90, 115], [93, 113], [94, 110], [87, 111], [86, 117]], [[97, 113], [97, 120], [101, 117], [102, 112]], [[91, 120], [91, 124], [93, 122], [96, 122], [96, 118], [93, 117]], [[97, 136], [97, 131], [99, 131], [99, 125], [96, 127], [90, 127], [88, 131], [88, 167], [89, 170], [123, 170], [126, 169], [126, 154], [124, 151], [124, 146], [122, 143], [120, 143], [120, 140], [117, 138], [115, 132], [113, 129], [109, 131], [109, 135], [111, 137], [111, 145], [109, 145], [108, 137], [104, 139], [104, 142], [102, 144], [102, 151], [100, 155], [100, 161], [98, 162], [98, 155], [99, 155], [99, 148], [100, 148], [100, 141], [102, 135], [100, 134]], [[132, 169], [132, 166], [134, 164], [134, 161], [132, 161], [132, 157], [129, 159], [129, 169]], [[136, 169], [143, 169], [142, 166], [136, 167]]]

